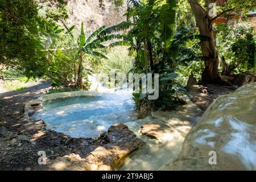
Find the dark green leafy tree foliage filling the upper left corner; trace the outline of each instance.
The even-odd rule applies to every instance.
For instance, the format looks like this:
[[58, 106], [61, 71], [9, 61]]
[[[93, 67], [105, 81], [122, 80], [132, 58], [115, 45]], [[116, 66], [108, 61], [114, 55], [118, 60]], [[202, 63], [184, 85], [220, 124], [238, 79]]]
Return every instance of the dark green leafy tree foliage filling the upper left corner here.
[[[55, 7], [66, 1], [49, 1]], [[40, 16], [38, 2], [3, 0], [0, 3], [0, 64], [19, 69], [28, 77], [43, 76], [42, 64], [47, 60], [43, 37], [52, 23]]]

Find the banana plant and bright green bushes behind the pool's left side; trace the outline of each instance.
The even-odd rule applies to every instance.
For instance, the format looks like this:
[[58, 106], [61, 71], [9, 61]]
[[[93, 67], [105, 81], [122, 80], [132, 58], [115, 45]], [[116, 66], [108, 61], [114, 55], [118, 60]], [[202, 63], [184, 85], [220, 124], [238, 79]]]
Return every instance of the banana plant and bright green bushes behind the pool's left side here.
[[[47, 61], [42, 65], [46, 77], [51, 78], [53, 86], [73, 83], [80, 89], [90, 88], [89, 75], [94, 72], [90, 68], [98, 69], [97, 66], [102, 59], [107, 57], [102, 53], [102, 44], [109, 40], [122, 39], [125, 36], [112, 34], [109, 28], [102, 26], [86, 38], [84, 23], [81, 24], [81, 32], [78, 39], [72, 33], [74, 26], [68, 27], [62, 20], [64, 28], [51, 26], [48, 28], [50, 39], [47, 54]], [[116, 29], [117, 30], [117, 29]], [[100, 34], [105, 31], [104, 35]], [[118, 44], [114, 42], [114, 44]], [[65, 69], [63, 69], [65, 68]]]

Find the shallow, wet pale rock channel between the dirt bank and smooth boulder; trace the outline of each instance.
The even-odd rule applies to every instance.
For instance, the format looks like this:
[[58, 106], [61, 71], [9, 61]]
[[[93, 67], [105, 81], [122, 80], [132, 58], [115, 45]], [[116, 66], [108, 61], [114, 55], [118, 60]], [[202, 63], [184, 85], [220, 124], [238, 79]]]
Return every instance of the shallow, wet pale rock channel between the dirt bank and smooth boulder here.
[[147, 145], [135, 151], [121, 170], [157, 170], [180, 152], [185, 136], [203, 115], [188, 97], [184, 100], [187, 104], [174, 110], [153, 111], [147, 118], [126, 123]]

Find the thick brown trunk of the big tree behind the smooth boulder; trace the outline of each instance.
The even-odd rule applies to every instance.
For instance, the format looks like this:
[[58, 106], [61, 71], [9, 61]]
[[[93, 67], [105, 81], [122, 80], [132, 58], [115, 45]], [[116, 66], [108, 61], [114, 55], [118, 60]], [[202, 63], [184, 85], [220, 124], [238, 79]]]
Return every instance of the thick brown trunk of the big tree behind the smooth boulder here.
[[[208, 3], [206, 3], [207, 6]], [[202, 7], [192, 2], [189, 2], [189, 4], [195, 15], [200, 35], [205, 35], [210, 38], [210, 41], [201, 42], [203, 56], [209, 57], [209, 60], [204, 61], [205, 68], [202, 75], [202, 81], [204, 83], [221, 82], [220, 59], [216, 47], [216, 32], [213, 30], [212, 22], [207, 15], [207, 11], [204, 11]]]

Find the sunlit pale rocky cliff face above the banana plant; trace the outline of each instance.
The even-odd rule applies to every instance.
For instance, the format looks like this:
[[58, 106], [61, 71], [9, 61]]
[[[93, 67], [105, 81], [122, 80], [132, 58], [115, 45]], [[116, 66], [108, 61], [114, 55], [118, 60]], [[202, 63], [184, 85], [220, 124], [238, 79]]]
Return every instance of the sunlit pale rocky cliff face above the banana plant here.
[[99, 5], [98, 0], [72, 0], [68, 3], [70, 16], [67, 19], [68, 26], [76, 26], [79, 32], [81, 22], [85, 24], [86, 34], [90, 34], [101, 26], [113, 26], [125, 20], [123, 14], [126, 5], [116, 8], [113, 2], [104, 1], [104, 9]]

